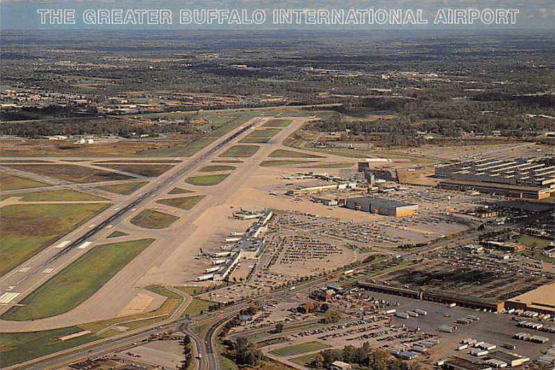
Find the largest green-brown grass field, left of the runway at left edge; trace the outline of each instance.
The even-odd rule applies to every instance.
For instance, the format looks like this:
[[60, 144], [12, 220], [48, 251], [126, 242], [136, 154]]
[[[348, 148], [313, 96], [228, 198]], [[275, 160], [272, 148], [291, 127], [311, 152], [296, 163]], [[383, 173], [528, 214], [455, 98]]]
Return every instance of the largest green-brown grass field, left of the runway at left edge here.
[[0, 275], [6, 274], [110, 204], [15, 204], [1, 208]]

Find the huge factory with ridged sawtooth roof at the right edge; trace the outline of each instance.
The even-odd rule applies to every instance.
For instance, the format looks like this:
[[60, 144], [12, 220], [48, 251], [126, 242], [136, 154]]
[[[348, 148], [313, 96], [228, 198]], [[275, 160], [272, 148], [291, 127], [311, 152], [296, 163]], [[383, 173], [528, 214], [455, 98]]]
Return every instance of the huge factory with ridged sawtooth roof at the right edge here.
[[475, 190], [513, 198], [545, 199], [555, 194], [555, 166], [536, 159], [480, 159], [438, 166], [439, 187]]

